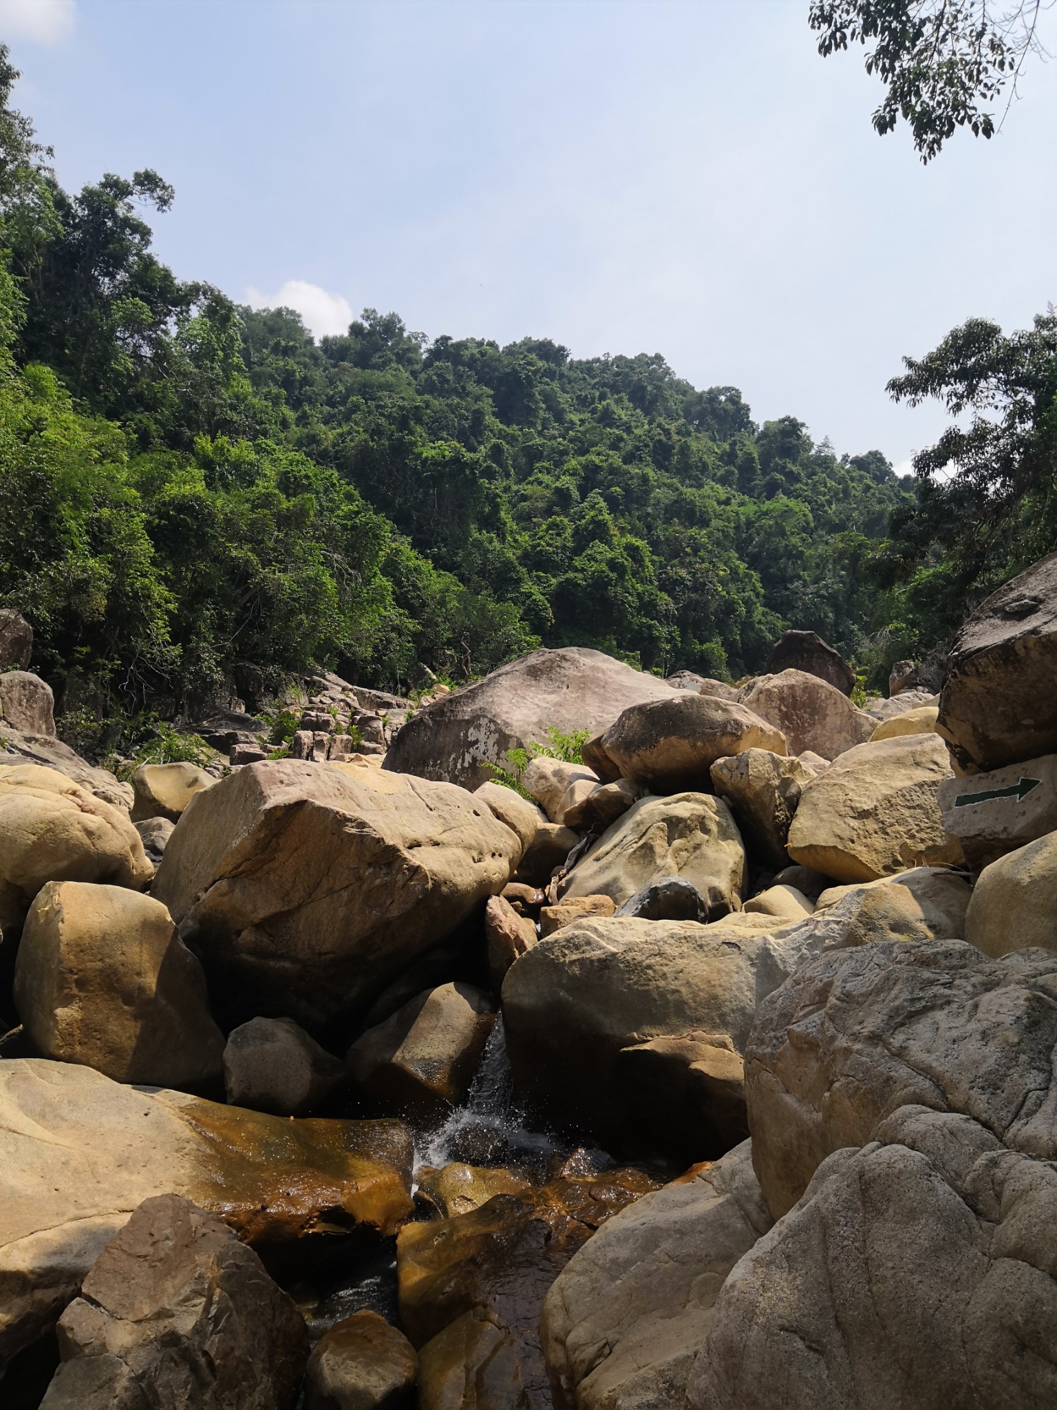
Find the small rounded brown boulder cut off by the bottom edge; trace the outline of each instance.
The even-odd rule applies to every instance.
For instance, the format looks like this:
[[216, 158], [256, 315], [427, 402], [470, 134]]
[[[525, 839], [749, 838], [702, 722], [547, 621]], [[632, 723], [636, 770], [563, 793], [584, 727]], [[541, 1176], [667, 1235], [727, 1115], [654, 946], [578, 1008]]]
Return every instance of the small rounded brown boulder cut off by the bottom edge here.
[[304, 1410], [414, 1410], [419, 1356], [378, 1313], [352, 1313], [316, 1344]]

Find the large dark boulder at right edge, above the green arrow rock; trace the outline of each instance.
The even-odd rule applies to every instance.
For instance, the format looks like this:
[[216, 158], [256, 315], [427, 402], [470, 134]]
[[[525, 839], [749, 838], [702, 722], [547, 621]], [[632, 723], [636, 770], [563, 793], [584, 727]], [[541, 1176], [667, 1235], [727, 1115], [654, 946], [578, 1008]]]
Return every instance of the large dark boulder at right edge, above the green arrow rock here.
[[1057, 753], [1057, 553], [992, 592], [958, 632], [937, 729], [974, 771]]

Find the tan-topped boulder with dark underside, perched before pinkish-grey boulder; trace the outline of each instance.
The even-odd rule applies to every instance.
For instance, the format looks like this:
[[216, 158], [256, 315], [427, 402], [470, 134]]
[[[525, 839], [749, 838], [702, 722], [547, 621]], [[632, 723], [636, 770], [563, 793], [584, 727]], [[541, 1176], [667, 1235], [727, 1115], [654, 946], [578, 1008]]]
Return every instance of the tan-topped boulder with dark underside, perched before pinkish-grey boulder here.
[[707, 790], [709, 768], [746, 749], [786, 753], [785, 735], [751, 709], [715, 695], [672, 694], [633, 705], [602, 736], [624, 778], [648, 792]]

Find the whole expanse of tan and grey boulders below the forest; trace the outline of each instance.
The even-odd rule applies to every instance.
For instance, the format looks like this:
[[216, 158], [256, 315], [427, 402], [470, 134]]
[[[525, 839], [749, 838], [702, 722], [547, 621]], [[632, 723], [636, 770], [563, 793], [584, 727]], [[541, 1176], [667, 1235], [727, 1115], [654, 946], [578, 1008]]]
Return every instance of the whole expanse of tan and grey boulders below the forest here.
[[1057, 556], [131, 785], [0, 651], [6, 1407], [1057, 1407]]

